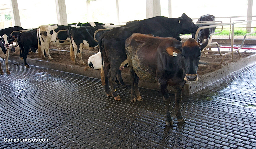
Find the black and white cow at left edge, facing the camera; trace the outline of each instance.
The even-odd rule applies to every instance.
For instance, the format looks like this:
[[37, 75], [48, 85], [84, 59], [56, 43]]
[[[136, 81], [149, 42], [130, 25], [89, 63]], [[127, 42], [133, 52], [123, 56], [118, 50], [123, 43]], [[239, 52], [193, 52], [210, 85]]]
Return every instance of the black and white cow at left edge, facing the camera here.
[[[6, 73], [11, 74], [9, 69], [8, 69], [8, 58], [9, 58], [9, 48], [10, 48], [10, 42], [15, 40], [15, 36], [8, 37], [7, 35], [3, 35], [0, 37], [0, 57], [5, 59], [5, 66], [6, 66]], [[4, 72], [1, 67], [1, 62], [0, 62], [0, 74], [3, 75]]]

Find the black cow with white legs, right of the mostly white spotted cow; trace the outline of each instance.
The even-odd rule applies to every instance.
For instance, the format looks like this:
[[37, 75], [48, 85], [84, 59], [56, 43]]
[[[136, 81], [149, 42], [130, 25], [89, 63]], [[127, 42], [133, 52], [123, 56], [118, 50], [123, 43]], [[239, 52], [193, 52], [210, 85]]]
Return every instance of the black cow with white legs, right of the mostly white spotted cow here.
[[[70, 58], [75, 63], [77, 63], [76, 54], [80, 59], [81, 64], [86, 65], [82, 59], [82, 49], [92, 49], [98, 46], [98, 42], [96, 42], [93, 38], [93, 35], [96, 30], [104, 29], [103, 26], [76, 26], [70, 27], [67, 30], [68, 37], [71, 40], [70, 43]], [[100, 35], [108, 30], [99, 31], [95, 38], [98, 40]]]

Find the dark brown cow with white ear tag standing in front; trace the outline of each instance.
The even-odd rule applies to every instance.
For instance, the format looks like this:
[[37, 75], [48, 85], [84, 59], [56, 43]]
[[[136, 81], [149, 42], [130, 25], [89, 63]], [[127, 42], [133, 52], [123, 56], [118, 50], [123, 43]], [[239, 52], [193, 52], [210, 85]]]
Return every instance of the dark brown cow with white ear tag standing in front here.
[[[178, 122], [185, 123], [180, 110], [182, 88], [186, 81], [197, 81], [197, 68], [201, 50], [207, 42], [200, 45], [193, 38], [185, 43], [175, 38], [152, 37], [133, 33], [125, 41], [125, 51], [130, 67], [131, 102], [142, 101], [138, 89], [139, 80], [157, 82], [165, 102], [166, 125], [172, 126], [167, 86], [175, 92], [176, 116]], [[134, 86], [135, 85], [135, 91]], [[135, 92], [135, 96], [134, 96]]]

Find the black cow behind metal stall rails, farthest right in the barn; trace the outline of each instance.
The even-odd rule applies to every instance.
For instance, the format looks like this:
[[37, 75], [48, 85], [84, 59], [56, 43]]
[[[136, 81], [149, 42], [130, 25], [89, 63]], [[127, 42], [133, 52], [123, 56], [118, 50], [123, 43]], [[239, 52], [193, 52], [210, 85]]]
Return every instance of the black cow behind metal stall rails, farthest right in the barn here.
[[[201, 16], [197, 22], [201, 22], [201, 21], [215, 21], [215, 17], [213, 15], [207, 14], [207, 15]], [[198, 24], [199, 24], [198, 27], [206, 26], [206, 25], [200, 25], [200, 23]], [[200, 30], [197, 35], [197, 41], [202, 43], [204, 39], [209, 39], [210, 34], [214, 33], [215, 29], [216, 27]], [[195, 38], [194, 33], [192, 33], [192, 38]], [[211, 40], [209, 40], [209, 42], [211, 42]]]

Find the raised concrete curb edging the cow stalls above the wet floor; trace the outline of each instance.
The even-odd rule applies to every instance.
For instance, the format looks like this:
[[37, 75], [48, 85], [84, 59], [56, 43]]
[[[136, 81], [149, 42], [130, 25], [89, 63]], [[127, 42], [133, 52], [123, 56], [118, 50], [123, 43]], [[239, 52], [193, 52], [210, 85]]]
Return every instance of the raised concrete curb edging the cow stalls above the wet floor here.
[[[19, 56], [9, 56], [9, 60], [16, 61], [19, 63], [24, 63], [23, 60], [19, 58]], [[236, 62], [229, 63], [229, 65], [222, 67], [221, 69], [218, 69], [216, 71], [204, 74], [202, 76], [199, 75], [198, 81], [187, 82], [185, 84], [183, 88], [183, 94], [194, 93], [195, 91], [200, 90], [205, 86], [212, 84], [217, 80], [227, 76], [228, 74], [254, 63], [255, 61], [256, 61], [256, 54], [246, 58], [241, 58], [239, 60], [236, 60]], [[80, 75], [89, 76], [93, 78], [100, 78], [100, 70], [87, 69], [86, 71], [84, 71], [84, 68], [85, 68], [84, 66], [63, 65], [63, 64], [54, 63], [51, 61], [35, 60], [35, 59], [29, 59], [29, 58], [27, 59], [27, 63], [29, 65], [80, 74]], [[122, 74], [122, 77], [125, 84], [130, 84], [129, 74]], [[148, 82], [140, 81], [139, 86], [143, 88], [159, 90], [157, 83], [148, 83]]]

